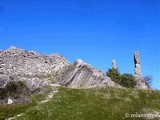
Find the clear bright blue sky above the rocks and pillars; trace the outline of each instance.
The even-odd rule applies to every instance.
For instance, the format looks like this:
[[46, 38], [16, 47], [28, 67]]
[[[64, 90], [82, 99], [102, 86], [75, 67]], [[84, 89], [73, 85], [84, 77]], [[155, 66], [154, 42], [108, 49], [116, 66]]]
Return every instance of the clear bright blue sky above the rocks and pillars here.
[[80, 58], [106, 72], [115, 59], [134, 75], [139, 51], [143, 76], [160, 89], [159, 0], [0, 0], [0, 49], [16, 46]]

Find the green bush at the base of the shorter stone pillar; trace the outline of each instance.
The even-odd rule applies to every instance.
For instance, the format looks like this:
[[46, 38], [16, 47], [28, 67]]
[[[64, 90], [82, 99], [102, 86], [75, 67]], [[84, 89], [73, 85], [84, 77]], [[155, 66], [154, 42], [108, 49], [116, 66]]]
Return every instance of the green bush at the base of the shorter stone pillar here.
[[120, 84], [121, 83], [121, 75], [118, 71], [118, 69], [109, 69], [108, 72], [106, 73], [108, 77], [111, 78], [114, 82]]

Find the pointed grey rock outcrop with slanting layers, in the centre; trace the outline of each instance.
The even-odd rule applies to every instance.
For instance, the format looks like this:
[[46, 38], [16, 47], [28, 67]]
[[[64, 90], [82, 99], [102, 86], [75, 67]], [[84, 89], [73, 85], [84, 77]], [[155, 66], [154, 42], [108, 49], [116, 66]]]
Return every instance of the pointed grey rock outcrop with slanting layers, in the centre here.
[[70, 88], [116, 86], [104, 73], [78, 59], [68, 66], [56, 79], [59, 84]]

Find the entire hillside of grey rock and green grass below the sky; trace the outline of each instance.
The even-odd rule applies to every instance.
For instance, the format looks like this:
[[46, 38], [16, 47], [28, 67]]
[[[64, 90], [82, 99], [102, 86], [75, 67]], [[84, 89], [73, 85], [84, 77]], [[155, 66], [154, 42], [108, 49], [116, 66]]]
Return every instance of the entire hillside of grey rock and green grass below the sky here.
[[[139, 57], [135, 64], [139, 75]], [[139, 114], [159, 115], [160, 91], [149, 90], [140, 75], [133, 80], [139, 84], [125, 88], [81, 59], [70, 63], [58, 54], [10, 47], [0, 50], [0, 119], [137, 120]]]

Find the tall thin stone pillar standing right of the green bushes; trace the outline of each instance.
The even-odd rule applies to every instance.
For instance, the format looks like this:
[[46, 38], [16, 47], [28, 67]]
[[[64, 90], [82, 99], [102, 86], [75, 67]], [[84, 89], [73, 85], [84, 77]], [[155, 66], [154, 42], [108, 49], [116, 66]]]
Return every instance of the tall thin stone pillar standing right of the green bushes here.
[[140, 58], [139, 53], [136, 51], [134, 53], [134, 65], [135, 65], [135, 79], [137, 82], [137, 88], [140, 89], [149, 89], [149, 86], [145, 82], [145, 80], [142, 78], [142, 72], [141, 72], [141, 64], [140, 64]]

